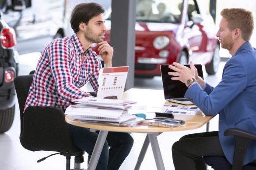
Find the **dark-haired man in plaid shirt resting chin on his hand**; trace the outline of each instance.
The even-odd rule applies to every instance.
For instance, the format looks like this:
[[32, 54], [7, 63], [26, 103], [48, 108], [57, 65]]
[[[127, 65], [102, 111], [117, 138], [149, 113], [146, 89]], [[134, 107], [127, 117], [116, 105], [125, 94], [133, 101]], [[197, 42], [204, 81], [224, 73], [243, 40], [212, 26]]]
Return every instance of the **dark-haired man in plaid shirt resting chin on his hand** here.
[[[98, 43], [105, 66], [112, 67], [113, 48], [103, 40], [107, 31], [104, 12], [97, 3], [81, 3], [74, 8], [70, 24], [75, 34], [52, 41], [42, 52], [24, 110], [31, 105], [65, 110], [72, 99], [92, 97], [80, 89], [87, 82], [97, 93], [102, 65], [91, 44]], [[70, 124], [69, 129], [74, 145], [86, 151], [90, 160], [98, 133]], [[109, 132], [96, 169], [118, 170], [132, 146], [129, 133]]]

